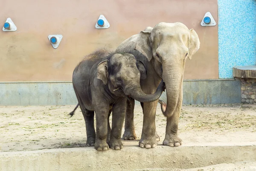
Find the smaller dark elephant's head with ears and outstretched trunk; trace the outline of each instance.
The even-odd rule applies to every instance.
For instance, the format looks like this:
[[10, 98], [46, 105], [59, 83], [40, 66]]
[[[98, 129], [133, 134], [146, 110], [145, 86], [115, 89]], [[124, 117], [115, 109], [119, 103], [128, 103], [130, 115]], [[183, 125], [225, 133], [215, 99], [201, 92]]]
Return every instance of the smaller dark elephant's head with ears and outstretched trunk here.
[[160, 98], [164, 90], [162, 81], [154, 94], [145, 94], [140, 79], [146, 77], [144, 64], [129, 53], [115, 53], [97, 67], [97, 78], [102, 80], [116, 96], [126, 96], [140, 102], [151, 102]]

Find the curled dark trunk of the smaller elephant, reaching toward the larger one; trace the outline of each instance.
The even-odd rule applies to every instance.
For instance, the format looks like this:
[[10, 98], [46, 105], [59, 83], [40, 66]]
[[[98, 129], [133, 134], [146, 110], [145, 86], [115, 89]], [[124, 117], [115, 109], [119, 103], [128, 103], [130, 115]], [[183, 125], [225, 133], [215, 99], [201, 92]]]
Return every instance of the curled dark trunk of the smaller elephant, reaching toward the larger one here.
[[165, 87], [165, 83], [162, 80], [158, 85], [157, 90], [154, 94], [145, 94], [142, 91], [140, 86], [134, 87], [134, 85], [131, 88], [126, 88], [124, 92], [126, 95], [130, 95], [133, 99], [137, 101], [152, 102], [160, 98], [164, 90], [164, 87]]

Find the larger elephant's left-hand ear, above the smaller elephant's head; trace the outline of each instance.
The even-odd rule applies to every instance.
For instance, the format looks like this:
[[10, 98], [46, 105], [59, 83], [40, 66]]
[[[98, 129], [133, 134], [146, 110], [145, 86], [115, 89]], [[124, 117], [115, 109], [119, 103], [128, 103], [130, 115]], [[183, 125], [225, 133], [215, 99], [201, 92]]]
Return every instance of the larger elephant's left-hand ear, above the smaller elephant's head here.
[[150, 61], [153, 56], [151, 49], [152, 42], [150, 40], [150, 33], [151, 32], [141, 31], [139, 33], [139, 38], [137, 39], [138, 41], [135, 42], [134, 46], [134, 50], [137, 50], [141, 54], [143, 54], [148, 59], [148, 61]]

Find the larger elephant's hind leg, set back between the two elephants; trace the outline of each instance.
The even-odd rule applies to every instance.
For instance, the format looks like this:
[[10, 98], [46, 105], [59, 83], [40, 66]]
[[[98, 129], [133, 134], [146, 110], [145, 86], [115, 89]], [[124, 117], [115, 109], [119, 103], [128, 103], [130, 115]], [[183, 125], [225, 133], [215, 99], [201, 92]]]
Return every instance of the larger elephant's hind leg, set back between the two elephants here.
[[134, 140], [137, 138], [134, 128], [134, 99], [126, 100], [126, 114], [125, 114], [125, 132], [123, 139]]

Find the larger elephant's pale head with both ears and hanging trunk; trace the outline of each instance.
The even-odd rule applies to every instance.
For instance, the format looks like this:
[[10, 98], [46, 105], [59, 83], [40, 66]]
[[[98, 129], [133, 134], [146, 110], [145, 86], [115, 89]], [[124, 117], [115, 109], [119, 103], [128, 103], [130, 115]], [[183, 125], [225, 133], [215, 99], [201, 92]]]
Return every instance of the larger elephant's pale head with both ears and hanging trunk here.
[[[183, 73], [186, 59], [198, 51], [200, 41], [193, 29], [183, 23], [158, 23], [139, 34], [134, 49], [153, 62], [157, 74], [166, 85], [167, 103], [162, 105], [165, 116], [172, 116], [183, 99]], [[163, 103], [165, 104], [165, 103]]]

